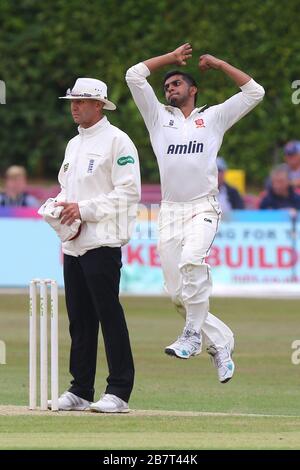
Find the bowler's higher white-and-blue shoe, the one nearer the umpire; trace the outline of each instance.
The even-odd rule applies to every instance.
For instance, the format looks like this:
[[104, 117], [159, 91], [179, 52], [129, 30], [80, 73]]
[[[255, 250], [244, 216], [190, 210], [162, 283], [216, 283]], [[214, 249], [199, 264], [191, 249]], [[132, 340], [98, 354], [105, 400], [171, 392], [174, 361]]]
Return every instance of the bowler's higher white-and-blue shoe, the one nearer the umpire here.
[[201, 333], [186, 326], [181, 336], [165, 348], [165, 353], [169, 356], [188, 359], [201, 353]]

